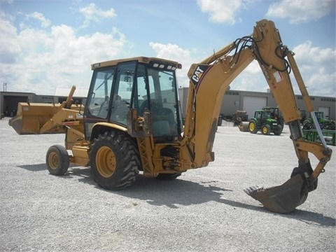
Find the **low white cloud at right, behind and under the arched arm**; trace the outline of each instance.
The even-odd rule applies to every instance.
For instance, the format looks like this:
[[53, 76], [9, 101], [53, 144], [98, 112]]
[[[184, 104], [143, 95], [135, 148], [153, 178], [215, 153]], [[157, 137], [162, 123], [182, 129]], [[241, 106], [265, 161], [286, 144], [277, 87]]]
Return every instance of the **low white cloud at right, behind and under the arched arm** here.
[[[311, 41], [306, 41], [297, 45], [293, 52], [309, 94], [336, 97], [336, 50], [314, 47]], [[293, 72], [290, 73], [290, 78], [295, 94], [300, 94]], [[266, 92], [268, 88], [256, 61], [253, 61], [231, 85], [232, 90]]]

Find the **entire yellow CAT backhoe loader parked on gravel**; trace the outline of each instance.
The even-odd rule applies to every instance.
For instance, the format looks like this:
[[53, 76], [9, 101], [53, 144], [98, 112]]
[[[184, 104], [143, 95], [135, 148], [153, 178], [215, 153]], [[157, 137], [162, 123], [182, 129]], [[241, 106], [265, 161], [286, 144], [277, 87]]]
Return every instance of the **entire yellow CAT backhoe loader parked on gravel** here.
[[[322, 133], [293, 56], [274, 22], [260, 20], [253, 34], [190, 66], [184, 125], [176, 80], [181, 64], [155, 57], [92, 64], [84, 106], [71, 104], [73, 86], [63, 104], [18, 104], [18, 115], [9, 124], [18, 134], [66, 133], [65, 146], [51, 146], [47, 152], [50, 174], [65, 174], [69, 164], [90, 166], [94, 181], [108, 190], [131, 186], [139, 171], [157, 179], [176, 179], [188, 169], [214, 161], [212, 148], [225, 90], [256, 60], [288, 124], [298, 164], [283, 185], [255, 186], [245, 192], [270, 211], [288, 213], [316, 189], [332, 154], [323, 137], [321, 144], [302, 137], [290, 71], [318, 134]], [[309, 153], [318, 159], [314, 170]]]

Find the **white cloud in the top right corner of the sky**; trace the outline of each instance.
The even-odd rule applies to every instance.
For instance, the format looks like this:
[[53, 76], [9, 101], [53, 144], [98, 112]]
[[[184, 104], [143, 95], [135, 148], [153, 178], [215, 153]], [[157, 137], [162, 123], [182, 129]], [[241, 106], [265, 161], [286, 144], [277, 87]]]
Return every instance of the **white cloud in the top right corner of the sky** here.
[[272, 3], [266, 15], [272, 18], [288, 18], [290, 23], [300, 24], [318, 20], [332, 11], [335, 11], [335, 0], [281, 0]]

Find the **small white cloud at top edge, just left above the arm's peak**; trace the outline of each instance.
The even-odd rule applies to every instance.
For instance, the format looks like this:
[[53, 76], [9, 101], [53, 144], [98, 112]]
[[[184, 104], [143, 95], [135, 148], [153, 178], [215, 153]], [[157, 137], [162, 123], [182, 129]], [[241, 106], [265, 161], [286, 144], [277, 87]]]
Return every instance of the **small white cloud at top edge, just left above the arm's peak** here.
[[234, 1], [214, 1], [197, 0], [197, 4], [204, 13], [209, 13], [211, 22], [225, 23], [234, 25], [236, 14], [243, 6], [242, 0]]

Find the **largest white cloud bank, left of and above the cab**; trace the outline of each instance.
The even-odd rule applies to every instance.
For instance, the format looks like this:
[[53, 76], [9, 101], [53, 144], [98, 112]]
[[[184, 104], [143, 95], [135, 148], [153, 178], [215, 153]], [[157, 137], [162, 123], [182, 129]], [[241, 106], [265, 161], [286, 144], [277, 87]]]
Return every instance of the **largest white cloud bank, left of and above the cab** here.
[[132, 47], [118, 29], [76, 36], [69, 26], [52, 26], [51, 33], [23, 29], [18, 33], [1, 19], [0, 76], [7, 90], [54, 94], [56, 87], [87, 88], [90, 64], [123, 56]]

